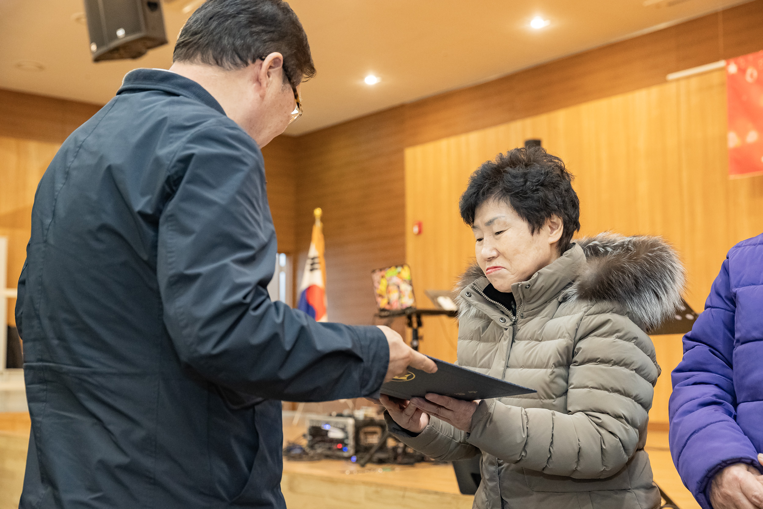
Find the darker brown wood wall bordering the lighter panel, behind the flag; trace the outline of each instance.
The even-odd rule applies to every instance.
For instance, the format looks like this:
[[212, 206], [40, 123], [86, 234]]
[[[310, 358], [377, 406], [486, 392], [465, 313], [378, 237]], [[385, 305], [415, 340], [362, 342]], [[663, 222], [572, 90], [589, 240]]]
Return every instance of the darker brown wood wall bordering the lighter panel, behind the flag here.
[[[312, 208], [320, 206], [327, 211], [329, 317], [371, 323], [375, 303], [369, 271], [405, 258], [401, 238], [410, 228], [402, 198], [406, 147], [665, 83], [669, 72], [763, 49], [761, 26], [763, 0], [756, 0], [298, 137], [298, 267], [310, 243]], [[414, 287], [423, 290], [417, 281], [414, 272]], [[423, 293], [419, 297], [429, 304]], [[442, 334], [443, 327], [449, 325], [425, 327], [425, 343], [431, 344], [428, 338]], [[439, 347], [446, 353], [446, 346]]]

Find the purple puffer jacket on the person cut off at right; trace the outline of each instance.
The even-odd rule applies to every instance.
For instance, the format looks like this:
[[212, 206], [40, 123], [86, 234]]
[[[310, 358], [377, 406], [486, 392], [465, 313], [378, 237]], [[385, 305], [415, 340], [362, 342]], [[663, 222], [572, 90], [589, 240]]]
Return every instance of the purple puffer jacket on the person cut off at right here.
[[763, 234], [732, 247], [673, 371], [670, 449], [694, 498], [763, 452]]

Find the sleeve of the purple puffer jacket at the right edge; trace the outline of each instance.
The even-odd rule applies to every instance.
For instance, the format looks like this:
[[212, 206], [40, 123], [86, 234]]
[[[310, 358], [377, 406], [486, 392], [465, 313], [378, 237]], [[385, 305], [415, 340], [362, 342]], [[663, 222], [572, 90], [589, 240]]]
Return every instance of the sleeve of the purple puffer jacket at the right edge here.
[[729, 260], [713, 282], [705, 311], [684, 336], [684, 359], [672, 374], [670, 449], [678, 473], [694, 498], [710, 509], [713, 477], [732, 463], [757, 465], [752, 442], [736, 424], [732, 382], [736, 302]]

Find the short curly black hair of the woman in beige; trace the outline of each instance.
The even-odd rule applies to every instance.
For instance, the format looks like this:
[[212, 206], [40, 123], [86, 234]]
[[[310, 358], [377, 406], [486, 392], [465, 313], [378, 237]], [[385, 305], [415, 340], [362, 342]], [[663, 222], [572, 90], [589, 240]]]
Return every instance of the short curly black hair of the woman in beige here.
[[459, 211], [474, 226], [475, 209], [485, 201], [504, 201], [530, 224], [536, 234], [553, 215], [562, 219], [559, 254], [570, 248], [572, 235], [580, 230], [580, 202], [572, 188], [570, 172], [559, 157], [542, 147], [517, 148], [482, 163], [461, 195]]

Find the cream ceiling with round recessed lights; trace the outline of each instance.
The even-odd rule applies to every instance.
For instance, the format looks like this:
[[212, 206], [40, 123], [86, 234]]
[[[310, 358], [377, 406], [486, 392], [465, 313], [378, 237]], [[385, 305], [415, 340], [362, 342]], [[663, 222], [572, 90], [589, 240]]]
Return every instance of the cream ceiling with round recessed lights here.
[[[172, 45], [199, 0], [165, 5], [169, 44], [138, 60], [92, 63], [82, 0], [0, 0], [0, 88], [104, 104], [136, 67], [172, 63]], [[291, 0], [317, 76], [288, 134], [459, 89], [739, 0]], [[540, 15], [550, 21], [530, 27]], [[72, 18], [73, 17], [73, 18]], [[19, 69], [21, 60], [42, 70]], [[364, 77], [381, 77], [369, 86]]]

